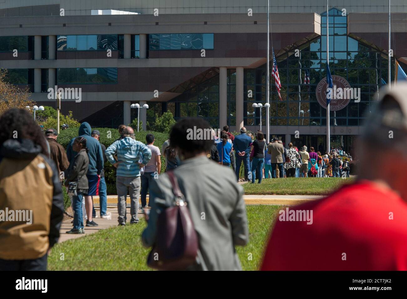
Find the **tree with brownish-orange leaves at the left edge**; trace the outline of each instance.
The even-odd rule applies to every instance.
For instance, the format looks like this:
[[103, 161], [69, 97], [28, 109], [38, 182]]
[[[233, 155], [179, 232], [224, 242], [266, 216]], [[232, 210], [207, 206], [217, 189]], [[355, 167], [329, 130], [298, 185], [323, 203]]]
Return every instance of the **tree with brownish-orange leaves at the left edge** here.
[[7, 70], [0, 69], [0, 115], [10, 108], [33, 107], [35, 102], [30, 99], [28, 88], [21, 89], [7, 82]]

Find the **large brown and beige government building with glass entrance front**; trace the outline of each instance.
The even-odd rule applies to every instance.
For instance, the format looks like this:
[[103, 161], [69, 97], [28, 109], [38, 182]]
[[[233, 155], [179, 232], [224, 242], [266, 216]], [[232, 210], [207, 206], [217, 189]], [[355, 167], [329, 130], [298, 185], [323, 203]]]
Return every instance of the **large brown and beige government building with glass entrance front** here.
[[[280, 100], [270, 76], [270, 134], [326, 150], [317, 88], [326, 78], [328, 22], [331, 74], [360, 91], [357, 100], [331, 101], [330, 142], [353, 153], [365, 113], [388, 81], [388, 1], [329, 5], [270, 0], [270, 72], [273, 48], [281, 82]], [[393, 81], [395, 59], [407, 69], [405, 1], [392, 1], [391, 12]], [[81, 100], [63, 99], [61, 112], [92, 127], [130, 123], [137, 117], [131, 104], [139, 103], [149, 106], [140, 108], [143, 129], [171, 111], [213, 128], [265, 131], [266, 108], [253, 104], [266, 103], [266, 52], [267, 0], [0, 0], [7, 80], [52, 107], [48, 88], [80, 89]]]

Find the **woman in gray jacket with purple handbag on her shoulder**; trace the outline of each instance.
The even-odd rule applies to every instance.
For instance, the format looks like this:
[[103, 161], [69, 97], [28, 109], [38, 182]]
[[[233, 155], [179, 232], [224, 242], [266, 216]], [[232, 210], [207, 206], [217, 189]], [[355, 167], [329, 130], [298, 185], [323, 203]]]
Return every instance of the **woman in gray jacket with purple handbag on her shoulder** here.
[[213, 140], [187, 138], [202, 118], [182, 118], [170, 133], [181, 164], [150, 186], [151, 212], [142, 233], [159, 270], [241, 270], [236, 246], [248, 242], [243, 188], [231, 168], [208, 162]]

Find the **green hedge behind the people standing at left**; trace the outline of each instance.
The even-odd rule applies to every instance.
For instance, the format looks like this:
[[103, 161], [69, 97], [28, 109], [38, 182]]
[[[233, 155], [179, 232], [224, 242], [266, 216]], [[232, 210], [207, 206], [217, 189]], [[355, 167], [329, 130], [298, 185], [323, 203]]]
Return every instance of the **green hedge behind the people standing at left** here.
[[[107, 147], [112, 144], [116, 139], [120, 137], [117, 129], [112, 128], [92, 128], [92, 130], [98, 130], [100, 135], [100, 142]], [[70, 140], [78, 136], [79, 128], [68, 128], [59, 132], [57, 141], [66, 149]], [[168, 134], [155, 132], [155, 131], [140, 131], [135, 132], [136, 140], [146, 144], [146, 135], [153, 134], [155, 137], [154, 145], [158, 148], [162, 148], [162, 144], [168, 139]], [[110, 137], [110, 138], [108, 138]], [[161, 172], [165, 170], [165, 158], [163, 153], [161, 153]], [[105, 180], [107, 185], [107, 194], [116, 194], [116, 168], [112, 166], [109, 162], [105, 163]]]

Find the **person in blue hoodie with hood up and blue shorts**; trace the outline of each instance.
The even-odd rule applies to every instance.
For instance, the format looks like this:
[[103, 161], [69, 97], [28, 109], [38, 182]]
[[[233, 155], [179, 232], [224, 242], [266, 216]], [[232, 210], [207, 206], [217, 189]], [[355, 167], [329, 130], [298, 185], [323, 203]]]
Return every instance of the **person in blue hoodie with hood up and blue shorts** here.
[[[83, 122], [79, 127], [78, 131], [79, 136], [86, 139], [86, 147], [89, 149], [89, 167], [86, 177], [88, 177], [88, 195], [85, 196], [85, 208], [88, 220], [86, 220], [86, 226], [98, 226], [92, 219], [92, 210], [93, 210], [93, 198], [92, 196], [99, 194], [99, 182], [101, 171], [103, 170], [103, 152], [100, 143], [98, 140], [92, 137], [92, 129], [88, 122]], [[74, 157], [77, 155], [72, 149], [74, 140], [76, 137], [72, 138], [66, 148], [66, 155], [70, 163], [73, 162]]]

